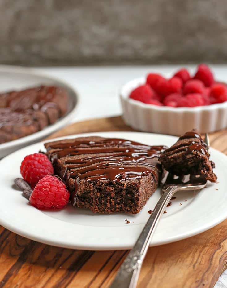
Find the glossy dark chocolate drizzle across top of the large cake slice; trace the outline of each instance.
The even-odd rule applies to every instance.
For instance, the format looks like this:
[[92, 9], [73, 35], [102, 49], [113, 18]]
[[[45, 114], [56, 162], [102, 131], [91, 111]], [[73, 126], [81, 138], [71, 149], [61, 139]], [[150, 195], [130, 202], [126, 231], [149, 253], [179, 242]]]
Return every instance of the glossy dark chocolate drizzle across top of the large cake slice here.
[[[88, 182], [109, 179], [121, 182], [151, 173], [154, 181], [157, 181], [157, 160], [154, 164], [146, 163], [146, 160], [157, 159], [166, 149], [165, 146], [148, 146], [118, 138], [97, 141], [75, 139], [71, 142], [47, 144], [46, 147], [51, 153], [52, 161], [67, 156], [63, 178], [66, 184], [70, 178], [76, 179], [74, 199], [78, 192], [79, 180]], [[81, 155], [81, 158], [69, 159], [69, 156], [78, 155]]]

